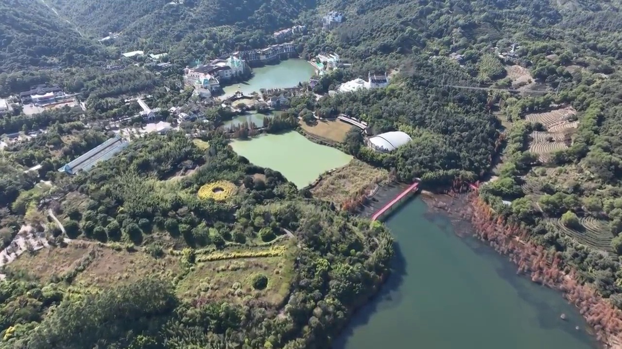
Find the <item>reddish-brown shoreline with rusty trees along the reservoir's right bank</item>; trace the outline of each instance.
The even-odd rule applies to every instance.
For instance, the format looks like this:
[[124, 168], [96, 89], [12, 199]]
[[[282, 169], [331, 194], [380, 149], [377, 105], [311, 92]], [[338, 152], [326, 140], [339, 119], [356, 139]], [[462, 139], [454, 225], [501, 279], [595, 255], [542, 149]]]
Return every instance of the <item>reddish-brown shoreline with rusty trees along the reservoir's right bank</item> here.
[[599, 342], [607, 348], [622, 349], [622, 311], [599, 296], [592, 286], [582, 284], [577, 272], [564, 265], [559, 253], [530, 242], [526, 230], [496, 217], [476, 193], [426, 192], [421, 197], [431, 212], [448, 215], [458, 235], [475, 235], [496, 252], [508, 256], [518, 266], [517, 273], [561, 291], [577, 307]]

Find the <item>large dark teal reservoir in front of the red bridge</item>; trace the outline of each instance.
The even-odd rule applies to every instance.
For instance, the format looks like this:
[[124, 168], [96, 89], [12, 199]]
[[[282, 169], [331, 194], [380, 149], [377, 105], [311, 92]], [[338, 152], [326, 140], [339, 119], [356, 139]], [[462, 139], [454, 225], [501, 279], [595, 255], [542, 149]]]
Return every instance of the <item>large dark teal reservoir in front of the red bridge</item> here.
[[475, 238], [458, 237], [419, 197], [386, 224], [396, 239], [394, 271], [333, 349], [598, 348], [559, 292], [516, 275]]

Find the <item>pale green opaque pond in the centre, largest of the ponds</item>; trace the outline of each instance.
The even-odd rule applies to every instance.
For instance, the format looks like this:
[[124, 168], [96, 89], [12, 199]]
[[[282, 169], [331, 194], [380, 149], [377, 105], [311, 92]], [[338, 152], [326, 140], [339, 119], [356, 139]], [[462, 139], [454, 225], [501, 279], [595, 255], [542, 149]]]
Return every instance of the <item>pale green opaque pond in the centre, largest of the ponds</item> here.
[[298, 132], [261, 135], [234, 140], [231, 147], [255, 165], [279, 171], [298, 188], [304, 188], [328, 170], [347, 165], [352, 156], [313, 143]]

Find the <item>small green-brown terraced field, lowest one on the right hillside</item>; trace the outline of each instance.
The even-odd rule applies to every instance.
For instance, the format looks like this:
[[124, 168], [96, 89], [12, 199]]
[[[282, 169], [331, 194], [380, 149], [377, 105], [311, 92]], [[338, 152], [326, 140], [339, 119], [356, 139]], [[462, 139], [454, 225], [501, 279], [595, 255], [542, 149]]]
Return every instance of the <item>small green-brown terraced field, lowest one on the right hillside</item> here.
[[548, 219], [551, 224], [554, 224], [560, 232], [565, 233], [569, 237], [574, 238], [577, 242], [582, 243], [601, 250], [606, 253], [613, 254], [611, 249], [611, 234], [607, 222], [605, 220], [598, 220], [593, 217], [583, 217], [580, 219], [582, 229], [575, 230], [566, 227], [559, 219]]

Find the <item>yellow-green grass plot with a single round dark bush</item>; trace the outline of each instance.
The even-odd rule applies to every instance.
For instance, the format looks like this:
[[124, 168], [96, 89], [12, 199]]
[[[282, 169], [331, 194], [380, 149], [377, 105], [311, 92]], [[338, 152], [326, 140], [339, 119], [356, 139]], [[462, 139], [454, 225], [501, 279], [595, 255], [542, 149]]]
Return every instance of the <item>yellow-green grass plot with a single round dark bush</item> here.
[[[198, 263], [179, 283], [177, 292], [184, 298], [257, 299], [279, 306], [289, 293], [293, 268], [294, 263], [284, 256]], [[253, 279], [260, 274], [267, 277], [267, 287], [254, 289]]]

